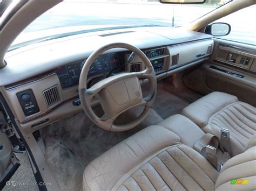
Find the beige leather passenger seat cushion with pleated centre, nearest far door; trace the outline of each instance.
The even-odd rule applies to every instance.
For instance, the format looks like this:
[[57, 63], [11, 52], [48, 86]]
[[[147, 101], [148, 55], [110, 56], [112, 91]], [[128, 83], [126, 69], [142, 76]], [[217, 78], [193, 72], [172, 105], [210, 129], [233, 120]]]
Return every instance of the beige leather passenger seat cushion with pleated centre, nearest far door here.
[[218, 137], [221, 128], [229, 129], [233, 155], [256, 145], [256, 108], [233, 95], [215, 91], [188, 105], [182, 114]]

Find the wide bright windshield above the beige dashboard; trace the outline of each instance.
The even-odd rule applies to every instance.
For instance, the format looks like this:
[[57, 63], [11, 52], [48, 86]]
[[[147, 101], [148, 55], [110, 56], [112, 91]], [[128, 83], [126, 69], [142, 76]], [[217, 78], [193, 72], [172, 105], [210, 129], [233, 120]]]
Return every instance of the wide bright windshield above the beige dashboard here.
[[161, 4], [159, 0], [66, 0], [34, 20], [9, 51], [45, 40], [80, 33], [132, 27], [177, 27], [192, 22], [227, 3]]

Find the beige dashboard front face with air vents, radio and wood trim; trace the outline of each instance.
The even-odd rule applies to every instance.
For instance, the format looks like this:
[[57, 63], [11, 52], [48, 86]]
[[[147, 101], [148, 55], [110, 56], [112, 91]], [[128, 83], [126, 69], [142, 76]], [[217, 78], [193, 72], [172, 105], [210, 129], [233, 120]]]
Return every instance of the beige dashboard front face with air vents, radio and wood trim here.
[[[204, 38], [197, 40], [147, 47], [142, 50], [151, 61], [157, 79], [163, 79], [208, 59], [213, 51], [213, 40], [209, 36], [204, 36]], [[124, 50], [117, 50], [114, 53], [123, 55], [123, 59], [120, 58], [120, 62], [123, 64], [130, 54]], [[86, 58], [80, 59], [80, 61], [84, 63]], [[65, 87], [61, 77], [68, 74], [60, 76], [56, 72], [57, 66], [66, 67], [70, 66], [71, 63], [73, 62], [62, 62], [59, 66], [54, 65], [52, 69], [39, 75], [1, 87], [9, 107], [14, 112], [17, 124], [25, 133], [31, 133], [58, 121], [62, 117], [74, 115], [83, 110], [81, 105], [77, 104], [79, 99], [78, 83]], [[144, 68], [142, 60], [135, 56], [132, 62], [120, 72], [138, 72]], [[90, 76], [89, 81], [93, 82], [96, 77], [104, 78], [105, 74]], [[146, 81], [146, 79], [140, 79], [141, 83]], [[92, 102], [93, 105], [98, 103], [96, 99]]]

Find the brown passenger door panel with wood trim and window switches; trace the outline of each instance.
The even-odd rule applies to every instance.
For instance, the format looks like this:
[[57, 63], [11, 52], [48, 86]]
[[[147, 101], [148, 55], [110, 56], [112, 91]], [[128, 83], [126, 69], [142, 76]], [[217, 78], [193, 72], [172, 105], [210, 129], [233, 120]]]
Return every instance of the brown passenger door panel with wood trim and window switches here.
[[214, 38], [211, 58], [183, 80], [201, 94], [223, 91], [256, 106], [255, 46]]

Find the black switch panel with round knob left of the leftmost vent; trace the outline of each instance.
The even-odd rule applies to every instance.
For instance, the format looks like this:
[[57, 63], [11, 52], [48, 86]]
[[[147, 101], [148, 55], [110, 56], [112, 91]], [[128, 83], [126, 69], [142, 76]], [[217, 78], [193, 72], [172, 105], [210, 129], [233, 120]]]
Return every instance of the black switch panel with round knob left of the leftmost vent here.
[[21, 91], [16, 95], [25, 116], [30, 116], [39, 112], [39, 107], [35, 95], [31, 89]]

